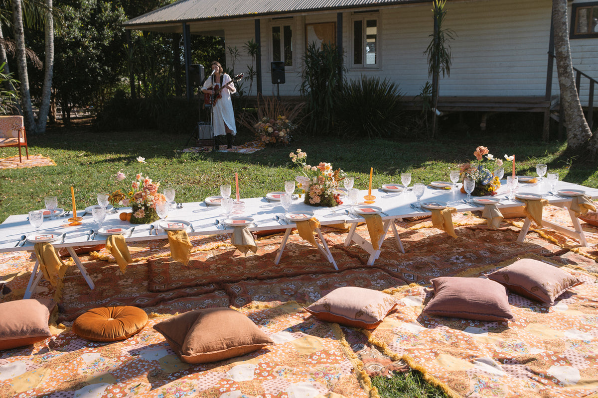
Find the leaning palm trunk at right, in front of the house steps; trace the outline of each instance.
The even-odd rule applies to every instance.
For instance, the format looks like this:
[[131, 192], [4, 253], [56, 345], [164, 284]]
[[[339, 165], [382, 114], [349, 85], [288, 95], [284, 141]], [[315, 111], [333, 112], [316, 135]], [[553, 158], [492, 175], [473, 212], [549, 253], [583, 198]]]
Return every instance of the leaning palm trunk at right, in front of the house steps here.
[[585, 121], [584, 110], [575, 87], [569, 44], [567, 0], [553, 0], [553, 23], [554, 53], [559, 73], [560, 96], [567, 122], [567, 149], [570, 152], [581, 152], [581, 150], [587, 150], [592, 132]]

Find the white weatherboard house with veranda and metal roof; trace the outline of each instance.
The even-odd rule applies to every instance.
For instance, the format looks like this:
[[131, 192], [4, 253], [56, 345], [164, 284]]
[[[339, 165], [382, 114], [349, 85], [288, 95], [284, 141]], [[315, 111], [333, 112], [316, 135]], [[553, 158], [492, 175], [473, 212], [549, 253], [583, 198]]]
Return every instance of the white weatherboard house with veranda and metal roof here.
[[[438, 108], [545, 112], [547, 120], [559, 94], [549, 55], [551, 1], [449, 0], [446, 10], [444, 27], [456, 38], [450, 77], [440, 81]], [[570, 1], [569, 18], [573, 67], [581, 72], [579, 97], [592, 107], [590, 82], [598, 80], [598, 1]], [[406, 97], [414, 97], [429, 80], [423, 52], [434, 19], [431, 1], [421, 0], [180, 0], [125, 26], [182, 33], [187, 44], [193, 34], [222, 36], [227, 48], [240, 51], [235, 73], [247, 72], [252, 64], [243, 45], [253, 39], [261, 48], [254, 87], [275, 95], [271, 63], [282, 61], [281, 97], [299, 95], [307, 43], [332, 41], [343, 51], [345, 78], [365, 74], [390, 79]], [[230, 66], [229, 58], [227, 52]], [[191, 63], [187, 57], [187, 68]]]

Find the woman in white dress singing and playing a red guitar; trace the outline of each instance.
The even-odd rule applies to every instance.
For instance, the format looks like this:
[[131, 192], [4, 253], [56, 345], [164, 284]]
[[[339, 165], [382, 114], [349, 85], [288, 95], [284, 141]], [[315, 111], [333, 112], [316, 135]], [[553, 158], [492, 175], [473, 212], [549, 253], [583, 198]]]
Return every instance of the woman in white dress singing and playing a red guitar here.
[[219, 149], [218, 136], [224, 134], [226, 134], [227, 148], [232, 148], [233, 135], [237, 134], [237, 128], [234, 124], [233, 102], [230, 95], [237, 92], [237, 89], [218, 61], [213, 61], [211, 66], [212, 75], [204, 82], [202, 92], [213, 97], [211, 104], [215, 148]]

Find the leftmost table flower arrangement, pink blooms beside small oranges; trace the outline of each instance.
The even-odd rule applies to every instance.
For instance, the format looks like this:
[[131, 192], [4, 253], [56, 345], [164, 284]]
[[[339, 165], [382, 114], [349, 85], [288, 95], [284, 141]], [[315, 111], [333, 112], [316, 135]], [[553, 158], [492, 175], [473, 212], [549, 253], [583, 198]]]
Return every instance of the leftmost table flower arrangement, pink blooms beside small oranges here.
[[[139, 163], [146, 163], [145, 158], [139, 156]], [[123, 181], [126, 177], [122, 171], [116, 174], [117, 181]], [[130, 187], [112, 192], [108, 201], [112, 205], [131, 206], [133, 213], [130, 221], [132, 224], [148, 224], [158, 220], [155, 211], [157, 203], [166, 202], [163, 194], [158, 193], [160, 183], [154, 183], [151, 178], [142, 175], [141, 171], [131, 181]]]

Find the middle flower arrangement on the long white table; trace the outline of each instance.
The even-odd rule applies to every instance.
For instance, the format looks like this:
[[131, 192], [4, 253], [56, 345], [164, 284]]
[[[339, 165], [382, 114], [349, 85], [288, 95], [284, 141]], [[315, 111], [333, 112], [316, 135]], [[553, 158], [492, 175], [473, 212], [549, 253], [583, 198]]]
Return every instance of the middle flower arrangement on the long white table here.
[[338, 187], [345, 177], [344, 171], [341, 169], [333, 171], [330, 163], [321, 162], [318, 166], [307, 164], [307, 153], [301, 152], [301, 149], [297, 149], [297, 153], [291, 152], [289, 157], [303, 173], [296, 180], [298, 187], [305, 194], [304, 203], [327, 207], [343, 203], [340, 200]]

